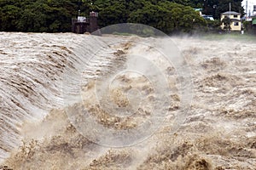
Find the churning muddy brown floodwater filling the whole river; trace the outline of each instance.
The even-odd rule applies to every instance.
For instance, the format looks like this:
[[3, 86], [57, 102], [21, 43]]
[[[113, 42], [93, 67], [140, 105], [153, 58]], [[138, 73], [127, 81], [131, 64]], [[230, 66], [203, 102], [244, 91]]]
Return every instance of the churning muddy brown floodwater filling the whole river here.
[[[0, 37], [0, 169], [255, 169], [255, 42], [171, 38], [189, 64], [194, 89], [188, 115], [173, 133], [183, 98], [178, 82], [184, 80], [177, 74], [178, 68], [166, 65], [154, 51], [160, 45], [156, 39], [7, 32], [0, 32]], [[99, 50], [106, 42], [108, 47]], [[102, 92], [103, 97], [97, 99], [106, 87], [104, 82], [110, 81], [105, 77], [137, 63], [131, 55], [135, 52], [160, 65], [167, 86], [140, 74], [121, 72], [112, 82], [110, 94]], [[78, 63], [86, 66], [81, 68]], [[148, 65], [140, 62], [134, 67], [158, 77], [153, 67], [150, 74]], [[81, 77], [75, 76], [78, 71]], [[76, 86], [79, 88], [73, 88]], [[167, 101], [155, 95], [158, 87], [166, 94], [171, 89]], [[82, 103], [77, 94], [82, 94]], [[114, 112], [109, 99], [119, 108], [134, 110], [134, 115], [109, 114]], [[159, 108], [153, 109], [152, 103]], [[154, 122], [160, 110], [167, 114], [147, 139], [115, 148], [106, 144], [109, 135], [94, 139], [93, 133], [102, 132], [80, 126], [84, 117], [79, 111], [84, 105], [102, 129], [114, 131], [139, 128], [148, 119]], [[71, 117], [73, 113], [75, 117]], [[81, 131], [91, 133], [91, 138]]]

